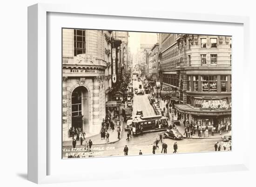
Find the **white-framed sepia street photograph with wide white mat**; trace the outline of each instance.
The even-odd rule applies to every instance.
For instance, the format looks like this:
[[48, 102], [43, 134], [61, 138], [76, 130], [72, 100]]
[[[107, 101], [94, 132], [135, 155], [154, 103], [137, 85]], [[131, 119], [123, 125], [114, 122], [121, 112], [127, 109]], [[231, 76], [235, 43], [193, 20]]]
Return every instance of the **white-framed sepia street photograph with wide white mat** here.
[[29, 6], [28, 179], [247, 170], [248, 27], [238, 16]]

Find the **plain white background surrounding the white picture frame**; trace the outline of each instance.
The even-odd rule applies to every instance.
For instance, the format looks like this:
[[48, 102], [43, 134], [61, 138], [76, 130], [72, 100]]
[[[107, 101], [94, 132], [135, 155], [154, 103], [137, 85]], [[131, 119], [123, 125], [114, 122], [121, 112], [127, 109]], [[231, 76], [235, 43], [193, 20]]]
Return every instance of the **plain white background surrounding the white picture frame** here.
[[[250, 17], [250, 65], [251, 74], [244, 78], [251, 81], [251, 91], [255, 90], [255, 62], [253, 53], [255, 51], [256, 33], [256, 13], [255, 5], [252, 0], [87, 0], [87, 6], [116, 8], [143, 9], [162, 9], [165, 8], [174, 12], [188, 13], [212, 13], [225, 15], [243, 15]], [[0, 147], [0, 183], [1, 186], [35, 186], [34, 183], [27, 181], [27, 6], [35, 3], [85, 3], [85, 0], [8, 0], [1, 1], [0, 4], [0, 124], [1, 124], [1, 147]], [[158, 3], [157, 5], [155, 3]], [[158, 8], [161, 7], [161, 8]], [[15, 89], [15, 90], [14, 90]], [[253, 92], [252, 92], [253, 93]], [[251, 108], [248, 109], [251, 116], [254, 114], [255, 100], [251, 93]], [[255, 120], [251, 117], [251, 126], [255, 126]], [[254, 130], [254, 131], [253, 131]], [[255, 132], [255, 127], [250, 129]], [[241, 135], [246, 135], [243, 132]], [[251, 133], [254, 135], [255, 133]], [[250, 171], [233, 173], [214, 173], [214, 174], [191, 174], [173, 175], [157, 179], [132, 179], [123, 181], [97, 181], [97, 182], [78, 182], [66, 184], [49, 184], [46, 186], [254, 186], [256, 162], [255, 162], [255, 140], [251, 138], [251, 159]], [[227, 158], [223, 158], [227, 159]], [[171, 184], [169, 183], [170, 181]], [[252, 184], [249, 184], [252, 183]]]

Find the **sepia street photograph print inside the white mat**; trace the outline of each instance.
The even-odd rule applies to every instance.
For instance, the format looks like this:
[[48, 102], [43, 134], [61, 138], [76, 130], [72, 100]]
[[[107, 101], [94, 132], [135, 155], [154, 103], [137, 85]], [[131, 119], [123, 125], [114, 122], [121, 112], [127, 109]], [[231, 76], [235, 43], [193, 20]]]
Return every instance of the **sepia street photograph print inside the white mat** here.
[[232, 150], [232, 36], [61, 34], [62, 159]]

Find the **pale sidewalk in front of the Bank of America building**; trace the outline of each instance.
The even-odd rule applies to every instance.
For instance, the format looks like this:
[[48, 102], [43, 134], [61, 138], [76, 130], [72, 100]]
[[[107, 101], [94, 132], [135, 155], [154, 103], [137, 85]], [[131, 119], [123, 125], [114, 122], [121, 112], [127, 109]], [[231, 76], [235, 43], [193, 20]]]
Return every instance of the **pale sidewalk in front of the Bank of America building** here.
[[[123, 117], [120, 115], [120, 120], [121, 120], [121, 132], [120, 132], [120, 137], [122, 135], [122, 130], [123, 130]], [[114, 119], [113, 119], [114, 121]], [[115, 122], [114, 122], [115, 123]], [[117, 126], [115, 124], [115, 130], [113, 131], [112, 129], [108, 129], [108, 133], [109, 133], [109, 142], [106, 142], [106, 138], [105, 140], [101, 140], [101, 133], [97, 134], [97, 135], [92, 135], [92, 136], [85, 136], [85, 140], [83, 141], [82, 145], [80, 144], [80, 141], [76, 141], [76, 147], [84, 147], [85, 146], [85, 142], [89, 142], [89, 140], [91, 140], [93, 142], [93, 145], [104, 145], [104, 144], [110, 144], [110, 143], [115, 143], [118, 142], [120, 139], [117, 138]], [[68, 141], [63, 141], [62, 142], [62, 147], [70, 147], [72, 146], [72, 139], [68, 140]]]

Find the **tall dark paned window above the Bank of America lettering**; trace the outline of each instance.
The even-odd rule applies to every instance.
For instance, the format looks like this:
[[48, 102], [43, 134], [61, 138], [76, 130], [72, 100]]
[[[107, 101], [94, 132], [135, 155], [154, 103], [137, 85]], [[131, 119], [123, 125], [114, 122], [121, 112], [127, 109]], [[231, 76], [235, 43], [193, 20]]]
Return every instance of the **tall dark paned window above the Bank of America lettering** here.
[[74, 29], [74, 56], [85, 53], [85, 30]]

